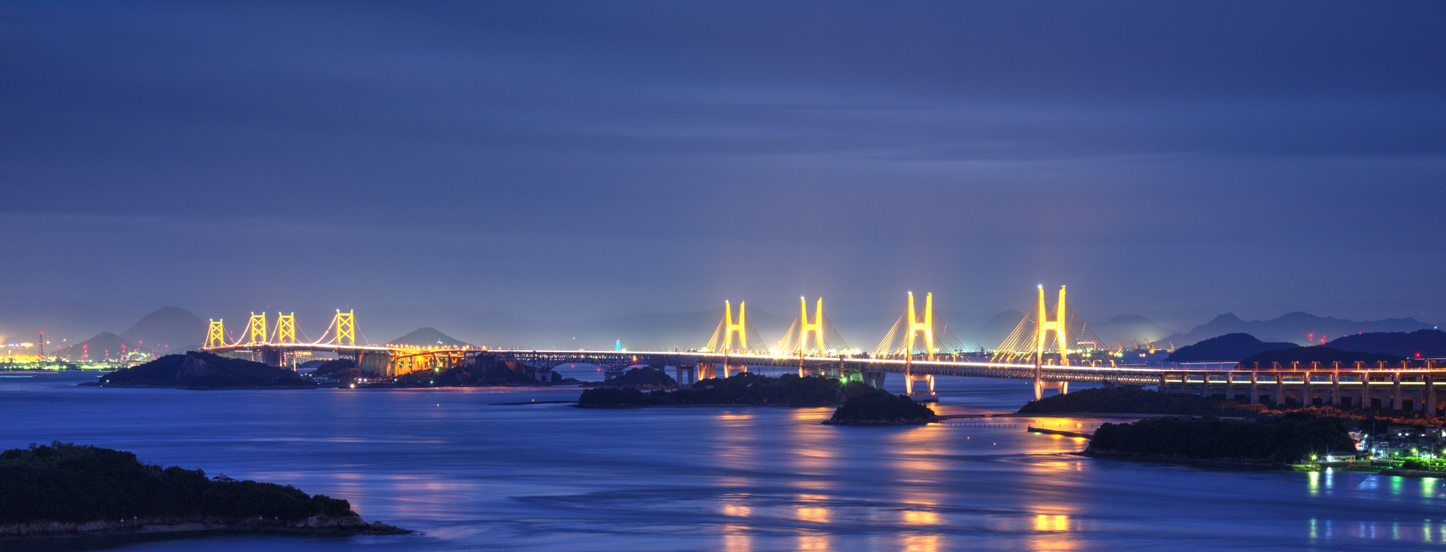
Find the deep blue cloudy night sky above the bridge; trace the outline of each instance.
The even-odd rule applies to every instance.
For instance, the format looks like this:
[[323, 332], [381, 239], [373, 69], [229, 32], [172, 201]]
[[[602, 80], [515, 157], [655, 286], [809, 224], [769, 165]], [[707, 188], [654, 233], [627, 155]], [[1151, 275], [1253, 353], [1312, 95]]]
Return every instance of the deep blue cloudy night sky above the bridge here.
[[1442, 1], [7, 1], [0, 293], [1432, 318], [1443, 66]]

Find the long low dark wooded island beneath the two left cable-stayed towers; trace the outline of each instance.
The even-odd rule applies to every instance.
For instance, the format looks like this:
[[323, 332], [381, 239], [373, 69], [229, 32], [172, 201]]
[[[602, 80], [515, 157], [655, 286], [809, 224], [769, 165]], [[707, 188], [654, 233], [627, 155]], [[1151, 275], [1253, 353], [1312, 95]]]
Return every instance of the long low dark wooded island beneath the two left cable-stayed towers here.
[[[633, 370], [636, 371], [636, 370]], [[628, 376], [623, 376], [628, 377]], [[833, 406], [859, 394], [884, 393], [863, 381], [782, 374], [740, 373], [710, 377], [678, 390], [642, 392], [630, 387], [593, 387], [577, 399], [578, 407], [636, 407], [681, 405]]]

